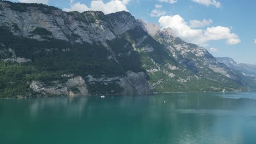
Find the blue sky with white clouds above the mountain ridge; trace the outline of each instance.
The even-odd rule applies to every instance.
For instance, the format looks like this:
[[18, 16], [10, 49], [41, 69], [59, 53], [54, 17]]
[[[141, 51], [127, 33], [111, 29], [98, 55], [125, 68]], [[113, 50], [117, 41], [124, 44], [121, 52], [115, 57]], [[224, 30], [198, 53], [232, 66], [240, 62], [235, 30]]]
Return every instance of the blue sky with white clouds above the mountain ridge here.
[[172, 28], [173, 35], [213, 56], [256, 64], [256, 1], [252, 0], [10, 0], [65, 11], [129, 11], [136, 19]]

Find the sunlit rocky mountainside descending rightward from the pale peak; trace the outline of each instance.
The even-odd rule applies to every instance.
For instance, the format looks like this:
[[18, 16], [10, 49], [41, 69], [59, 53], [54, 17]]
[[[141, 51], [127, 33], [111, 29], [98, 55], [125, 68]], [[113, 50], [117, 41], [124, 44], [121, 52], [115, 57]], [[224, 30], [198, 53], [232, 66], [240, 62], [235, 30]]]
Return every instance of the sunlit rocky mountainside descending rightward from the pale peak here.
[[[146, 31], [151, 31], [148, 29], [150, 24], [143, 23], [143, 25]], [[172, 53], [177, 62], [199, 77], [218, 81], [221, 84], [226, 83], [224, 85], [229, 85], [228, 83], [233, 81], [241, 86], [246, 86], [245, 80], [233, 73], [225, 64], [219, 63], [206, 49], [186, 43], [180, 38], [174, 38], [171, 28], [160, 29], [155, 26], [153, 29], [158, 30], [155, 30], [156, 33], [153, 33], [152, 36]]]

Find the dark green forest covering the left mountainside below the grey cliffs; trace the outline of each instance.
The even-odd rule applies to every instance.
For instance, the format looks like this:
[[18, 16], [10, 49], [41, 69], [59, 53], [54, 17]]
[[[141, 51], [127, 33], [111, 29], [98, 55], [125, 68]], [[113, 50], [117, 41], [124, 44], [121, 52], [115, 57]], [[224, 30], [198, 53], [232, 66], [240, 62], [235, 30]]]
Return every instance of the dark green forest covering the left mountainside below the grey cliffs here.
[[[5, 27], [0, 27], [0, 31], [0, 44], [4, 45], [4, 47], [0, 46], [0, 50], [7, 52], [7, 56], [1, 56], [1, 59], [12, 55], [8, 52], [10, 48], [17, 57], [26, 57], [32, 60], [21, 64], [0, 61], [0, 97], [29, 96], [32, 93], [29, 86], [33, 80], [48, 84], [55, 80], [65, 83], [67, 78], [61, 77], [62, 74], [75, 74], [83, 77], [89, 74], [95, 77], [102, 75], [112, 77], [125, 75], [126, 71], [132, 68], [131, 63], [128, 65], [129, 57], [123, 60], [120, 57], [121, 63], [107, 59], [110, 52], [102, 45], [71, 45], [66, 41], [56, 39], [37, 41], [16, 37]], [[35, 29], [33, 33], [50, 34], [41, 28]], [[131, 57], [134, 56], [138, 57], [136, 53], [131, 55]], [[139, 61], [135, 59], [134, 62]], [[136, 69], [139, 71], [140, 65], [132, 70], [136, 71]], [[89, 85], [89, 88], [92, 94], [107, 93], [109, 89], [112, 89], [114, 93], [122, 91], [122, 88], [116, 83], [108, 86], [96, 83]], [[72, 91], [78, 92], [75, 89]]]

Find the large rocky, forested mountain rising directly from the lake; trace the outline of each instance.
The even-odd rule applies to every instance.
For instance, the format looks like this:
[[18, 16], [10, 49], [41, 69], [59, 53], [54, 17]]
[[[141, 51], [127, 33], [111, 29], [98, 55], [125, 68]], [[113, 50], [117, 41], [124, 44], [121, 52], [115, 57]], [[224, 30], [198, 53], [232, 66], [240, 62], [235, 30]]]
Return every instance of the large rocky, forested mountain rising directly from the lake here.
[[126, 11], [0, 1], [0, 31], [0, 97], [251, 88], [206, 49]]

